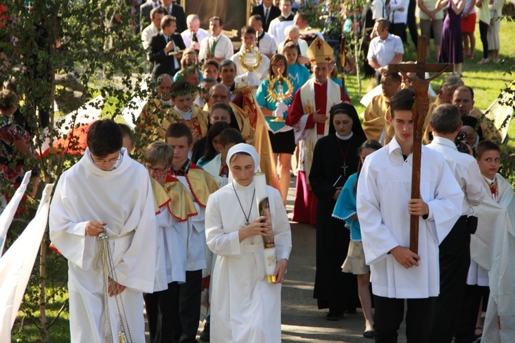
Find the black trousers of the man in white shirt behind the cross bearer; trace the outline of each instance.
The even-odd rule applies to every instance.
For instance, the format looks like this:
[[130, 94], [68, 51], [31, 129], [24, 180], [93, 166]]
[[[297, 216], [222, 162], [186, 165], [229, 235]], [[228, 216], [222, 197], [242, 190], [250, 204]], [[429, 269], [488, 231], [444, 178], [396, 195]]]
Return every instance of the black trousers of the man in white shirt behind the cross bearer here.
[[431, 342], [446, 343], [453, 340], [470, 266], [470, 233], [465, 215], [440, 244], [439, 264], [440, 294], [433, 310]]

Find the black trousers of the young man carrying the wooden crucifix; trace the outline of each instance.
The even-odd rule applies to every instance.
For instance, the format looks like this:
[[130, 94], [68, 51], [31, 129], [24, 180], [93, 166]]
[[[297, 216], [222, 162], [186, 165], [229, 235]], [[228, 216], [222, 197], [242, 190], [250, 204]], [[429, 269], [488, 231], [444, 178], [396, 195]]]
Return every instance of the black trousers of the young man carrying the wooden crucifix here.
[[[407, 299], [406, 337], [408, 343], [427, 343], [431, 331], [431, 314], [435, 298]], [[376, 342], [397, 342], [400, 323], [404, 318], [404, 299], [374, 296], [376, 308], [374, 330]]]

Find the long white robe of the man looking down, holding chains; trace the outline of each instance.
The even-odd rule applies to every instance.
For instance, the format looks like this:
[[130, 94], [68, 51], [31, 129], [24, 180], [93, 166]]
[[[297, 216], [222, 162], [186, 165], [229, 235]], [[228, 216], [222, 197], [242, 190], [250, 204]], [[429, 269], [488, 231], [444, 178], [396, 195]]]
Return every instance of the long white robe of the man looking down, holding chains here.
[[[133, 342], [145, 342], [143, 292], [154, 289], [157, 222], [148, 171], [122, 148], [116, 169], [104, 171], [89, 149], [62, 174], [50, 206], [50, 239], [68, 259], [71, 342], [115, 340], [119, 316], [108, 298], [111, 328], [104, 310], [104, 279], [96, 237], [85, 235], [90, 220], [107, 223], [117, 280]], [[99, 269], [100, 267], [100, 269]], [[122, 315], [123, 316], [123, 315]], [[126, 334], [128, 335], [127, 329]], [[109, 336], [112, 336], [110, 338]]]

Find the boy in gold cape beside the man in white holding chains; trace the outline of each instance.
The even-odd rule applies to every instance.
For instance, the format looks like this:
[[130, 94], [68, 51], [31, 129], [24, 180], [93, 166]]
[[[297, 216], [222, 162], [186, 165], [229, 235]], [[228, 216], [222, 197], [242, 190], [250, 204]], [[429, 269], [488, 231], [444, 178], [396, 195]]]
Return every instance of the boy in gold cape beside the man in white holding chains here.
[[152, 177], [157, 222], [157, 268], [154, 293], [144, 296], [150, 340], [174, 340], [173, 319], [179, 303], [178, 283], [186, 281], [186, 244], [188, 218], [196, 215], [185, 187], [176, 180], [172, 186], [168, 171], [174, 149], [163, 141], [150, 144], [144, 155], [145, 167]]

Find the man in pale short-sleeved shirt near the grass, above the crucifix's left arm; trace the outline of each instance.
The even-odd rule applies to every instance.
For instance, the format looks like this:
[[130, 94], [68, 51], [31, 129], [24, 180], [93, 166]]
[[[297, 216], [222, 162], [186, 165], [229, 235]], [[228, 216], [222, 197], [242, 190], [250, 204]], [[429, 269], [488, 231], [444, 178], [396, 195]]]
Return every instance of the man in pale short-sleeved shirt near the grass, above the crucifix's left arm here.
[[388, 64], [396, 64], [402, 62], [404, 55], [404, 47], [402, 40], [389, 33], [390, 22], [387, 19], [378, 19], [374, 24], [372, 35], [377, 36], [371, 40], [367, 60], [370, 67], [376, 69], [378, 81], [380, 75], [385, 72]]

